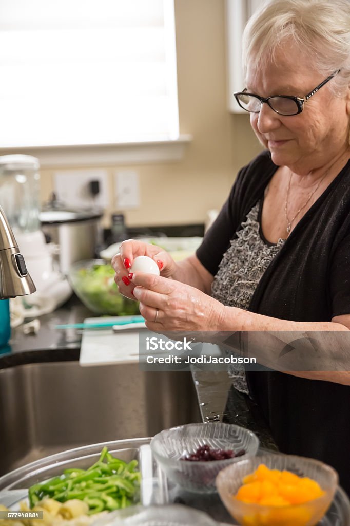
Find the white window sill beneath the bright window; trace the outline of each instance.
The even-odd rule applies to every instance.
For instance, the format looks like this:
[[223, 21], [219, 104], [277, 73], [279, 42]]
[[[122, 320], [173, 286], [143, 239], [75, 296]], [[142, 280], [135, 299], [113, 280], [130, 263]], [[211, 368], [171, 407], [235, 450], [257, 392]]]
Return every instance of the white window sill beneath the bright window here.
[[191, 140], [191, 135], [182, 134], [175, 140], [153, 140], [141, 143], [0, 148], [0, 155], [33, 155], [38, 157], [42, 168], [167, 163], [180, 161], [185, 147]]

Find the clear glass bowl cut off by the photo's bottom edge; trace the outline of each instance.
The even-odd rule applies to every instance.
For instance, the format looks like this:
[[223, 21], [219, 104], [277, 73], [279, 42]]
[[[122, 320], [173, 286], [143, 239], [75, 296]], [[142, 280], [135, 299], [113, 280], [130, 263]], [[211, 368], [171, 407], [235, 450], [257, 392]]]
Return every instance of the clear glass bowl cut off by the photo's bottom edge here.
[[133, 506], [117, 510], [96, 520], [93, 526], [217, 526], [203, 511], [181, 504]]

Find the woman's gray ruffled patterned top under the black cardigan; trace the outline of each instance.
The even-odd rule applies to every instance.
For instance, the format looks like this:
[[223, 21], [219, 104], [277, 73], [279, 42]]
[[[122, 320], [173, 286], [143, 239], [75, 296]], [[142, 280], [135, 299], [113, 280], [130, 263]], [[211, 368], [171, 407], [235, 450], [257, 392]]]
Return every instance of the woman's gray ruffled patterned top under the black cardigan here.
[[[212, 283], [212, 297], [229, 307], [248, 309], [258, 283], [272, 259], [284, 244], [279, 239], [276, 244], [262, 237], [259, 223], [258, 202], [249, 212], [242, 229], [236, 232], [236, 238], [223, 255], [217, 275]], [[244, 367], [231, 366], [229, 374], [233, 386], [248, 393]]]

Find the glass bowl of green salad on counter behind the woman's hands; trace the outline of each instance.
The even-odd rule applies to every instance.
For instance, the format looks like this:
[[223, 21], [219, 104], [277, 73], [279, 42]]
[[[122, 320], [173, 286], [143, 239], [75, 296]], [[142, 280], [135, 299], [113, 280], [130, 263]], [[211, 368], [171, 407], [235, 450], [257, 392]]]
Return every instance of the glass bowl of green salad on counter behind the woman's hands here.
[[78, 261], [68, 279], [84, 305], [99, 315], [128, 316], [139, 313], [139, 302], [122, 296], [114, 281], [115, 271], [102, 259]]

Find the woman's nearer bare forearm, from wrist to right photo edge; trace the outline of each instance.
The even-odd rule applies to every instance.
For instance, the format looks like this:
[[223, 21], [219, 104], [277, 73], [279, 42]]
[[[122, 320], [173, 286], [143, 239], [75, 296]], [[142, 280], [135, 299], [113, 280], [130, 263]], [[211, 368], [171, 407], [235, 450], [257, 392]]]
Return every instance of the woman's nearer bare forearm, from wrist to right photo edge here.
[[[265, 367], [350, 385], [350, 330], [342, 323], [281, 320], [224, 307], [220, 327], [221, 345]], [[243, 331], [239, 340], [237, 331]]]

